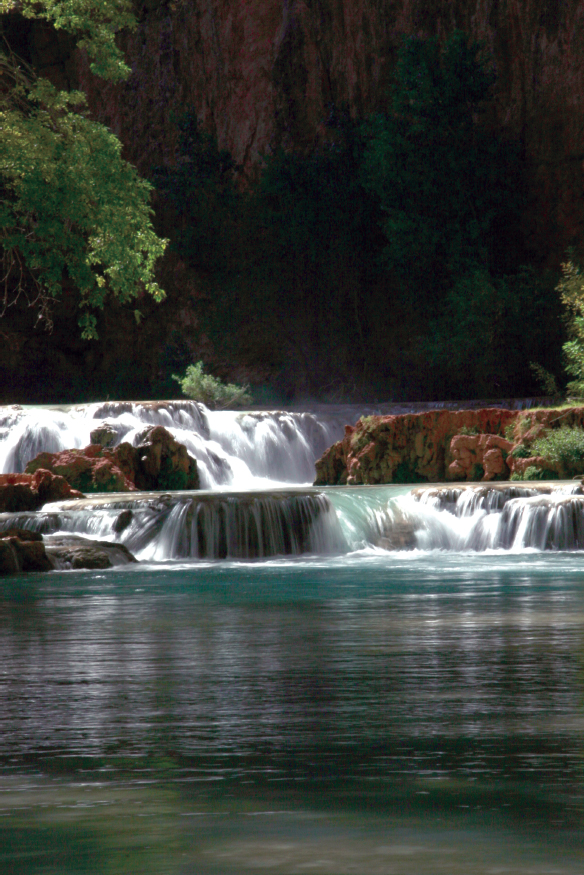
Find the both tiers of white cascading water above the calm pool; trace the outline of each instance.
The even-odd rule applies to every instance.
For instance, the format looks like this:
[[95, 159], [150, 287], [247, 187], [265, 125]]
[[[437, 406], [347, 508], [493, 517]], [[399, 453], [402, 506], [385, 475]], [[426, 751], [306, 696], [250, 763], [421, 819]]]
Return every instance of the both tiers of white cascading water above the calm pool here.
[[0, 528], [115, 540], [150, 562], [584, 549], [580, 484], [306, 488], [342, 431], [343, 418], [323, 413], [213, 412], [192, 401], [0, 408], [0, 473], [43, 450], [84, 447], [104, 422], [115, 443], [134, 445], [147, 425], [163, 425], [197, 459], [202, 491], [61, 502], [4, 515]]

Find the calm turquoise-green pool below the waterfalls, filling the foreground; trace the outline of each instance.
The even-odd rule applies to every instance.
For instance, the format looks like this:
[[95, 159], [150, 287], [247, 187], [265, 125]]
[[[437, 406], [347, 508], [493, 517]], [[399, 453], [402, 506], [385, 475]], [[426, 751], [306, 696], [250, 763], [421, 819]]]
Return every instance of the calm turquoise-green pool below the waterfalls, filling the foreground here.
[[577, 553], [0, 581], [0, 872], [584, 871]]

